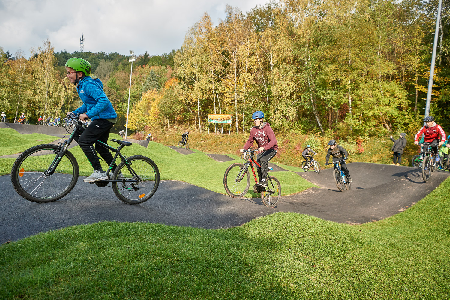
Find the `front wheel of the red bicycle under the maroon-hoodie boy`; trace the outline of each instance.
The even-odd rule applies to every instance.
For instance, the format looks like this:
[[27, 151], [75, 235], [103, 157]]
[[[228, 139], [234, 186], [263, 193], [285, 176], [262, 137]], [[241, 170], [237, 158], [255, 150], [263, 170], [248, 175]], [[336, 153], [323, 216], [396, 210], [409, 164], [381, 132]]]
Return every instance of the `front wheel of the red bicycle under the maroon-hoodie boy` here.
[[243, 197], [250, 188], [250, 173], [244, 164], [236, 162], [230, 165], [224, 175], [225, 192], [233, 198]]

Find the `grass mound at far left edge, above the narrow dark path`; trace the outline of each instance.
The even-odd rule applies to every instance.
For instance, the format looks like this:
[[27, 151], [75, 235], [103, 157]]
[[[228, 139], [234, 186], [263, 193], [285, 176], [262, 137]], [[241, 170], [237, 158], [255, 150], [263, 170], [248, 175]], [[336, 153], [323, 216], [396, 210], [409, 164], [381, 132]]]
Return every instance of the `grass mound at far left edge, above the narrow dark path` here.
[[20, 153], [33, 146], [51, 143], [57, 139], [57, 136], [47, 134], [20, 134], [12, 128], [0, 128], [0, 155]]

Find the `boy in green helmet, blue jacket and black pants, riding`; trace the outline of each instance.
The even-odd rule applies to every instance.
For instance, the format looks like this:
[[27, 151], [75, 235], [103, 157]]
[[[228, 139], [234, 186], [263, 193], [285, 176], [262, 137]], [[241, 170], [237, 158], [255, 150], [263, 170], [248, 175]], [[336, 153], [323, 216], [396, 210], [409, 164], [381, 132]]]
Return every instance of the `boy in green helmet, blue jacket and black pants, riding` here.
[[[94, 172], [85, 178], [85, 182], [94, 182], [108, 179], [108, 175], [103, 171], [100, 165], [97, 152], [103, 157], [105, 162], [110, 165], [113, 161], [111, 152], [104, 148], [100, 143], [108, 143], [109, 131], [117, 121], [117, 114], [112, 107], [111, 102], [103, 91], [102, 81], [90, 77], [90, 63], [82, 58], [69, 58], [65, 64], [67, 79], [76, 86], [76, 91], [80, 96], [83, 105], [72, 112], [67, 112], [67, 116], [80, 113], [80, 120], [91, 119], [92, 122], [86, 129], [83, 127], [75, 134], [74, 139], [80, 145]], [[94, 148], [95, 143], [95, 148]], [[116, 169], [114, 164], [112, 172]], [[109, 176], [113, 176], [110, 172]]]

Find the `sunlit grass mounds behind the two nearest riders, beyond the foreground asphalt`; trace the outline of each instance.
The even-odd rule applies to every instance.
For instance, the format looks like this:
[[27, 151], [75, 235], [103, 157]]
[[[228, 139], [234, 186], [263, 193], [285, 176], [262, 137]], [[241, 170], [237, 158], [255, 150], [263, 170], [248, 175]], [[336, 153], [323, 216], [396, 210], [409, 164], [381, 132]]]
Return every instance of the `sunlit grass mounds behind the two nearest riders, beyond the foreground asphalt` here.
[[[121, 138], [118, 134], [110, 134], [109, 139]], [[114, 146], [117, 145], [117, 143], [114, 142], [108, 143]], [[216, 193], [226, 194], [223, 185], [223, 176], [226, 168], [236, 161], [219, 162], [208, 157], [201, 151], [195, 149], [192, 150], [195, 153], [184, 155], [160, 143], [150, 142], [148, 144], [148, 148], [144, 148], [134, 143], [131, 146], [123, 148], [121, 153], [126, 156], [145, 155], [150, 157], [156, 162], [162, 180], [180, 180], [202, 188], [207, 188]], [[76, 160], [78, 161], [80, 175], [91, 175], [93, 170], [92, 166], [85, 157], [81, 148], [76, 146], [71, 148], [69, 151], [75, 155]], [[229, 156], [241, 161], [240, 157], [237, 155], [229, 154]], [[14, 161], [15, 158], [0, 158], [0, 174], [9, 174]], [[108, 166], [106, 163], [103, 160], [101, 160], [100, 163], [103, 166], [103, 170], [107, 170]], [[275, 176], [280, 180], [282, 195], [299, 193], [307, 188], [315, 186], [293, 172], [270, 172], [270, 175]], [[249, 192], [245, 195], [246, 197], [260, 197], [260, 194], [253, 193], [253, 184], [254, 181], [252, 179], [252, 185], [250, 186]]]

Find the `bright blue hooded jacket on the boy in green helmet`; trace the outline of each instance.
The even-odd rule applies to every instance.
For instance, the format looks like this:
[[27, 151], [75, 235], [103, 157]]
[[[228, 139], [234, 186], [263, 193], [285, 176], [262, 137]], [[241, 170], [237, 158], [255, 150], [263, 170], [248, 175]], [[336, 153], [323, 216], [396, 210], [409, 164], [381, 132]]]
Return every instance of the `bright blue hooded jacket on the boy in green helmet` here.
[[111, 101], [103, 91], [102, 81], [98, 78], [83, 77], [78, 82], [76, 91], [84, 104], [73, 111], [75, 114], [86, 113], [91, 120], [117, 118]]

